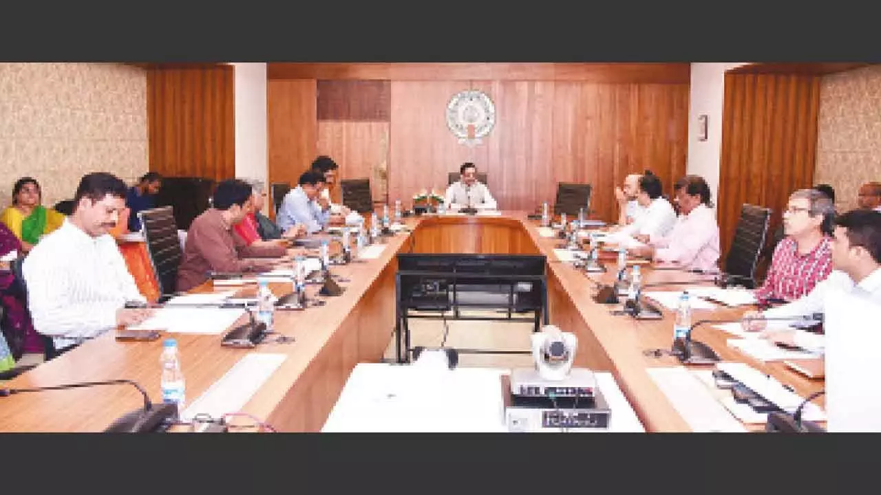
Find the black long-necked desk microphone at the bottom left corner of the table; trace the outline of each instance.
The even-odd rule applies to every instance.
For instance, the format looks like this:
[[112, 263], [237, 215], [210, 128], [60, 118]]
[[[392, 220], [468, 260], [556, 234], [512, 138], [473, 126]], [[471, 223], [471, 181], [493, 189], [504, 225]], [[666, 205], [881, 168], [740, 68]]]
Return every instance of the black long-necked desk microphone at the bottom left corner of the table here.
[[150, 402], [150, 395], [147, 395], [144, 388], [133, 380], [106, 380], [106, 381], [84, 381], [80, 383], [68, 383], [64, 385], [56, 385], [54, 387], [36, 387], [36, 388], [0, 388], [0, 397], [9, 395], [24, 394], [28, 392], [42, 392], [44, 390], [64, 390], [68, 388], [87, 388], [99, 385], [118, 385], [128, 383], [144, 396], [144, 408], [133, 410], [126, 413], [122, 417], [116, 419], [104, 430], [106, 433], [145, 433], [164, 431], [163, 426], [167, 423], [167, 419], [177, 416], [176, 403], [161, 403], [154, 405]]

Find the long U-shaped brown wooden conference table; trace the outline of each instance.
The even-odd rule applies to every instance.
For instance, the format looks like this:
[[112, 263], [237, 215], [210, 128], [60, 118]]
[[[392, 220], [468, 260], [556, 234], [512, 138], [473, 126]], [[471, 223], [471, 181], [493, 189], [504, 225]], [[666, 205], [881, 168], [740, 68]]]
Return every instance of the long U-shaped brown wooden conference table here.
[[[403, 223], [410, 232], [382, 238], [381, 252], [371, 259], [332, 267], [332, 272], [345, 280], [341, 283], [343, 294], [321, 297], [322, 306], [277, 312], [274, 329], [292, 337], [292, 342], [277, 344], [269, 339], [254, 349], [233, 349], [220, 345], [222, 334], [167, 333], [165, 336], [173, 336], [178, 342], [188, 403], [203, 395], [248, 354], [283, 355], [284, 361], [255, 390], [241, 412], [262, 419], [279, 432], [319, 432], [354, 367], [379, 362], [395, 334], [397, 253], [545, 255], [550, 322], [578, 336], [574, 366], [611, 373], [646, 431], [692, 431], [677, 404], [670, 402], [651, 377], [653, 368], [682, 365], [670, 355], [647, 352], [670, 349], [674, 314], [664, 309], [661, 320], [639, 321], [613, 314], [609, 306], [596, 303], [593, 296], [598, 284], [614, 280], [613, 268], [588, 274], [571, 262], [560, 261], [554, 249], [562, 241], [545, 237], [537, 220], [529, 219], [524, 211], [408, 217]], [[642, 269], [644, 284], [706, 279], [685, 271], [652, 270], [646, 264]], [[290, 284], [271, 284], [271, 288], [280, 295], [290, 291]], [[212, 287], [207, 282], [196, 292], [229, 289]], [[663, 286], [655, 285], [654, 289], [663, 290]], [[309, 290], [315, 293], [316, 287]], [[694, 319], [734, 319], [746, 309], [749, 307], [719, 307], [696, 312]], [[798, 395], [807, 396], [823, 388], [823, 380], [809, 380], [781, 362], [762, 362], [729, 347], [730, 337], [706, 325], [692, 334], [692, 338], [710, 345], [723, 361], [753, 366]], [[129, 379], [158, 399], [161, 351], [161, 339], [119, 342], [114, 332], [108, 332], [23, 373], [4, 387]], [[115, 418], [136, 410], [143, 399], [134, 388], [105, 386], [12, 395], [0, 398], [0, 403], [0, 432], [100, 432]], [[822, 406], [822, 399], [817, 403]], [[761, 428], [750, 425], [747, 429]]]

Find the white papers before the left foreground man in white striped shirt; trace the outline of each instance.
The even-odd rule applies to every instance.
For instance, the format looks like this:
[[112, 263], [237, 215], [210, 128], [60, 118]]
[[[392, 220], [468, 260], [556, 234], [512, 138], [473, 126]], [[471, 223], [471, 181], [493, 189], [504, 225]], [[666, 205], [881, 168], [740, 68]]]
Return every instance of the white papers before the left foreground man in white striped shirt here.
[[178, 334], [218, 335], [245, 314], [235, 307], [163, 307], [132, 330], [162, 330]]

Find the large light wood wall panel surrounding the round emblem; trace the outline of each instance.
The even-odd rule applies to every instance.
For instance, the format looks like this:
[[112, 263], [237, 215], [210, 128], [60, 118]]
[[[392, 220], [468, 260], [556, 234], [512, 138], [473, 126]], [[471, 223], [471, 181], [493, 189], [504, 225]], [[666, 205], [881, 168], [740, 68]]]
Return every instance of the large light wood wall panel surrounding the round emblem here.
[[[443, 121], [448, 99], [468, 87], [489, 94], [497, 113], [475, 148], [459, 144]], [[393, 81], [390, 199], [445, 188], [447, 173], [472, 161], [502, 209], [532, 211], [553, 202], [557, 182], [589, 182], [594, 215], [612, 220], [613, 189], [626, 174], [651, 169], [672, 194], [685, 174], [687, 112], [687, 85]]]

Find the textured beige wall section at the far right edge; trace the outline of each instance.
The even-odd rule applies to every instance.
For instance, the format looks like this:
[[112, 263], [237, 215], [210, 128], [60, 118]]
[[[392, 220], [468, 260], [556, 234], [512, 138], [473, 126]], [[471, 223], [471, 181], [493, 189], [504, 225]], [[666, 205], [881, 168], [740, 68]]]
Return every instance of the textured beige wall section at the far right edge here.
[[839, 211], [856, 206], [866, 181], [881, 181], [881, 64], [825, 76], [820, 83], [817, 171]]

